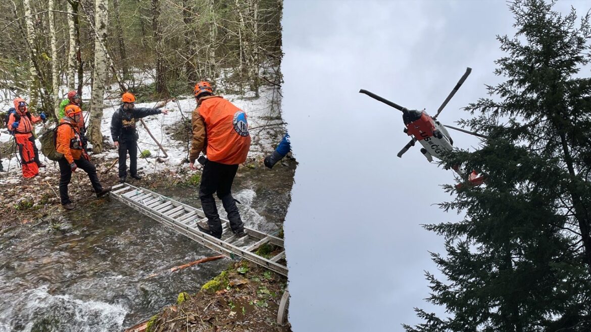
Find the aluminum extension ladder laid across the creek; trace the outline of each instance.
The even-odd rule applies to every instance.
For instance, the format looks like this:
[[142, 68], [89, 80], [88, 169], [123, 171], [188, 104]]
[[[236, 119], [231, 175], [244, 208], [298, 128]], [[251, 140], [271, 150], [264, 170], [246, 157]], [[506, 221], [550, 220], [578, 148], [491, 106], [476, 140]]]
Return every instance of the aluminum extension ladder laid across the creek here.
[[[238, 237], [230, 230], [228, 220], [222, 219], [222, 239], [217, 239], [197, 228], [197, 223], [207, 223], [202, 210], [128, 183], [113, 186], [111, 196], [222, 255], [232, 259], [239, 256], [287, 276], [285, 248], [279, 237], [247, 227], [244, 228], [246, 236]], [[256, 255], [254, 252], [266, 243], [279, 247], [281, 252], [270, 259]]]

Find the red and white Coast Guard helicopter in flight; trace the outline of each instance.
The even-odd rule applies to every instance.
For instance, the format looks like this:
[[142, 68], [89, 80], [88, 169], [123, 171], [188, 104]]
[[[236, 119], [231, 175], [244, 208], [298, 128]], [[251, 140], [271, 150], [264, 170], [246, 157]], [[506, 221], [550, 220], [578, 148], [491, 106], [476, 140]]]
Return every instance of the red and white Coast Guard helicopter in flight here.
[[[462, 128], [456, 128], [454, 126], [443, 125], [441, 122], [437, 121], [437, 116], [440, 115], [441, 111], [447, 103], [452, 99], [452, 97], [456, 94], [457, 90], [460, 89], [466, 78], [472, 72], [472, 68], [467, 67], [466, 72], [460, 77], [460, 80], [457, 82], [456, 86], [453, 88], [452, 92], [447, 96], [447, 98], [443, 101], [439, 109], [437, 109], [437, 113], [435, 116], [430, 116], [428, 113], [423, 110], [411, 110], [405, 107], [398, 105], [397, 103], [391, 102], [388, 99], [380, 97], [375, 93], [369, 92], [368, 90], [361, 89], [359, 93], [364, 93], [382, 103], [385, 103], [388, 106], [392, 106], [393, 108], [400, 110], [402, 112], [402, 121], [404, 122], [405, 128], [404, 133], [408, 136], [412, 136], [410, 142], [404, 146], [398, 152], [397, 156], [402, 158], [402, 155], [408, 151], [411, 147], [414, 147], [415, 143], [418, 141], [423, 147], [421, 148], [421, 153], [427, 158], [429, 162], [433, 161], [433, 158], [437, 158], [441, 160], [443, 154], [447, 151], [451, 151], [453, 149], [453, 139], [452, 136], [449, 134], [446, 128], [454, 129], [456, 131], [464, 132], [466, 134], [478, 136], [480, 138], [486, 138], [485, 135], [480, 135], [475, 132], [467, 131]], [[460, 168], [457, 165], [452, 167], [454, 171], [460, 177], [466, 180], [467, 184], [469, 185], [480, 185], [484, 182], [485, 177], [482, 175], [478, 175], [476, 171], [470, 172], [467, 174], [465, 170]]]

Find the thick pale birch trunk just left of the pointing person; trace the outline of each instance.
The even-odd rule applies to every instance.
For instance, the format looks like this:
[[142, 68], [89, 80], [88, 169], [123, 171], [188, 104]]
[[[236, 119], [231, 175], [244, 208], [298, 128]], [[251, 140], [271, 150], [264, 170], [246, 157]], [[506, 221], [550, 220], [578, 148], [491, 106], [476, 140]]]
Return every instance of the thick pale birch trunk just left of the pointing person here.
[[89, 139], [93, 151], [103, 151], [103, 135], [100, 132], [100, 122], [103, 118], [103, 100], [105, 98], [105, 84], [107, 79], [107, 54], [105, 47], [107, 40], [108, 0], [96, 0], [95, 6], [95, 73], [92, 80], [92, 103], [90, 104]]

